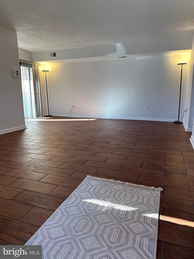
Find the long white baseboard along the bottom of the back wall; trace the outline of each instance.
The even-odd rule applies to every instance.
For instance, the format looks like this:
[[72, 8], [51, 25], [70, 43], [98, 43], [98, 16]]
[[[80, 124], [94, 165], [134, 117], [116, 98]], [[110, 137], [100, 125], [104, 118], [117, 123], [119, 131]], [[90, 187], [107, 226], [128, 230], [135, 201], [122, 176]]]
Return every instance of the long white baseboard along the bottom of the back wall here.
[[[69, 114], [53, 114], [52, 116], [68, 117]], [[89, 115], [70, 115], [70, 117], [76, 118], [94, 118], [94, 119], [117, 119], [117, 120], [141, 120], [141, 121], [169, 121], [173, 122], [176, 119], [161, 119], [161, 118], [140, 118], [140, 117], [104, 117], [104, 116], [89, 116]]]

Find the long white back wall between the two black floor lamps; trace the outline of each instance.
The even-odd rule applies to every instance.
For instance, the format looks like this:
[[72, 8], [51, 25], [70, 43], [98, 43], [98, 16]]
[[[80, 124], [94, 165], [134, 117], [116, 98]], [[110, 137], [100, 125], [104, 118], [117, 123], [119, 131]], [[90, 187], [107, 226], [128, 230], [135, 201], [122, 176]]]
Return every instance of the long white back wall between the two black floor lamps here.
[[[49, 89], [50, 114], [67, 116], [74, 104], [71, 115], [75, 117], [177, 120], [181, 73], [177, 63], [188, 61], [188, 54], [149, 53], [130, 59], [52, 64], [47, 67], [55, 76], [55, 88]], [[187, 69], [182, 77], [181, 114]], [[41, 85], [45, 96], [45, 76]]]

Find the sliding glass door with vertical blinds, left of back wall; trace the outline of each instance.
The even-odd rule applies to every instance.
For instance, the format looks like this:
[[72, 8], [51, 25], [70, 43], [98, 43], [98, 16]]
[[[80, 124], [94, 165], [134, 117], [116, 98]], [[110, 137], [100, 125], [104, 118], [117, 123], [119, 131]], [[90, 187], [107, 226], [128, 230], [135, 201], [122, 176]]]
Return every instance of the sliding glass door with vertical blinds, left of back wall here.
[[25, 119], [42, 116], [38, 66], [20, 62]]

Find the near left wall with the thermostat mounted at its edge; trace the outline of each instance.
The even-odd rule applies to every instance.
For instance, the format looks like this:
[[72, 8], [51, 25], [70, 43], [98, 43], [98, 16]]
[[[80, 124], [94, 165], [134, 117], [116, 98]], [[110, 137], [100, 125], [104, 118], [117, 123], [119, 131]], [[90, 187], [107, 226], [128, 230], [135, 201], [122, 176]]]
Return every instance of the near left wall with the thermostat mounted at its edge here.
[[20, 70], [17, 33], [0, 26], [0, 134], [26, 128], [24, 121], [22, 84], [12, 77]]

